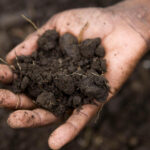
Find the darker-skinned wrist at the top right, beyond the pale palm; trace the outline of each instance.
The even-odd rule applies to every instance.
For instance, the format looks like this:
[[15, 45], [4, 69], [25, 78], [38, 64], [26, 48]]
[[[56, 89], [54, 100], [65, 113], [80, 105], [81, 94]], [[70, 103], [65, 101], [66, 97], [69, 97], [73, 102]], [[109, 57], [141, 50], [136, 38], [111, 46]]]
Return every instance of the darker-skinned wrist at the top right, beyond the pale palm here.
[[150, 47], [150, 0], [126, 0], [108, 9], [139, 33]]

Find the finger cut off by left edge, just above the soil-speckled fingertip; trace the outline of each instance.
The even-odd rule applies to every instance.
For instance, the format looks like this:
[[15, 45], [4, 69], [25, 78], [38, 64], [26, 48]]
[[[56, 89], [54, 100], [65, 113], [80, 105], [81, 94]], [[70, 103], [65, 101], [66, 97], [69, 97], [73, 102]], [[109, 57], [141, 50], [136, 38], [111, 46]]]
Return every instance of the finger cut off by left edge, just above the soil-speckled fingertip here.
[[27, 96], [0, 89], [0, 107], [12, 108], [12, 109], [31, 109], [35, 107], [35, 104]]

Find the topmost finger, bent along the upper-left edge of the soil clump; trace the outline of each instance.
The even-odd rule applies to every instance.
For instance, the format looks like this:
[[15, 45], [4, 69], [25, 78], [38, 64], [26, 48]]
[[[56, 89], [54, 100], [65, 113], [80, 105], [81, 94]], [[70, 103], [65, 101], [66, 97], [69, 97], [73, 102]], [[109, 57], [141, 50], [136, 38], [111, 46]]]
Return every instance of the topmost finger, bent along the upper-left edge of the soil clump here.
[[37, 49], [37, 40], [46, 30], [54, 28], [54, 18], [50, 19], [43, 27], [38, 29], [36, 32], [30, 34], [25, 41], [16, 46], [11, 52], [8, 53], [6, 60], [9, 64], [13, 63], [14, 58], [17, 56], [28, 56], [31, 55]]

